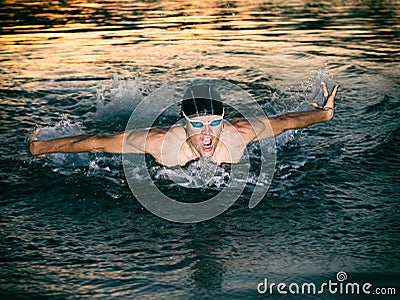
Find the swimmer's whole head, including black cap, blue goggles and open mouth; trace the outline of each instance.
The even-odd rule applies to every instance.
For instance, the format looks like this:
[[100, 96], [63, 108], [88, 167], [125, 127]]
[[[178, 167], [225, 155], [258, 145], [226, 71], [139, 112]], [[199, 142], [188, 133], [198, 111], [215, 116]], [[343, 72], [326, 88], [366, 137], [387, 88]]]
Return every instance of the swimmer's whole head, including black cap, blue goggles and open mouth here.
[[224, 107], [211, 85], [189, 87], [182, 101], [186, 133], [190, 145], [200, 156], [212, 156], [223, 130]]

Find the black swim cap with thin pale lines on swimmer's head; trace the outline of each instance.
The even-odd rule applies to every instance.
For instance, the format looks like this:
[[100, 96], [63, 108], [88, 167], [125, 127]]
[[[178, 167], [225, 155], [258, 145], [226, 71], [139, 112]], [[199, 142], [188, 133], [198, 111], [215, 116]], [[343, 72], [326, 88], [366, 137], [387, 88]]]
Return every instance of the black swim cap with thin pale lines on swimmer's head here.
[[182, 111], [186, 116], [222, 115], [224, 107], [218, 92], [211, 85], [202, 84], [186, 90]]

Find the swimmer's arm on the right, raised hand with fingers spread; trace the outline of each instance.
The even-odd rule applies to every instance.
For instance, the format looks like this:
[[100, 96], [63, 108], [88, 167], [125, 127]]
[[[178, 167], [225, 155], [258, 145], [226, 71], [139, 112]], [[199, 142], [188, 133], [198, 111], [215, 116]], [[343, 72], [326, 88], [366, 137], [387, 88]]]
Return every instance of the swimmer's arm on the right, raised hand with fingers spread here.
[[287, 130], [305, 128], [310, 125], [327, 122], [333, 118], [335, 108], [335, 96], [339, 88], [336, 85], [329, 94], [326, 84], [322, 85], [324, 92], [324, 105], [320, 106], [315, 102], [311, 106], [317, 108], [314, 111], [291, 112], [274, 118], [260, 117], [250, 121], [256, 137], [252, 141], [262, 140], [277, 136]]

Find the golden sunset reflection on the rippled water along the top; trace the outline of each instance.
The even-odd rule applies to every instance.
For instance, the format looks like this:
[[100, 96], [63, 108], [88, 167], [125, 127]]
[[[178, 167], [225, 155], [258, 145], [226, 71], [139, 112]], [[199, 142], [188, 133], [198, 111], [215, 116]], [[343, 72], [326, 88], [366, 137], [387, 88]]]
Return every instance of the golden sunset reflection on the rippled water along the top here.
[[[377, 9], [399, 15], [394, 1], [364, 4], [359, 1], [7, 1], [8, 16], [27, 14], [28, 21], [8, 22], [0, 36], [2, 67], [15, 78], [54, 78], [77, 72], [98, 73], [96, 66], [151, 64], [182, 66], [204, 59], [216, 66], [263, 58], [266, 68], [286, 64], [288, 56], [362, 56], [385, 59], [398, 51], [392, 40], [399, 24], [377, 27], [373, 19], [346, 17]], [[345, 3], [345, 5], [343, 5]], [[340, 5], [342, 4], [342, 5]], [[360, 46], [350, 45], [358, 40]], [[349, 44], [347, 46], [347, 44]], [[204, 56], [218, 52], [220, 57]], [[248, 53], [243, 57], [233, 53]], [[383, 53], [383, 54], [381, 54]], [[175, 57], [175, 58], [174, 58]], [[267, 59], [266, 59], [267, 58]], [[216, 59], [216, 60], [215, 60]], [[88, 68], [89, 66], [89, 68]], [[278, 71], [279, 72], [279, 68]]]

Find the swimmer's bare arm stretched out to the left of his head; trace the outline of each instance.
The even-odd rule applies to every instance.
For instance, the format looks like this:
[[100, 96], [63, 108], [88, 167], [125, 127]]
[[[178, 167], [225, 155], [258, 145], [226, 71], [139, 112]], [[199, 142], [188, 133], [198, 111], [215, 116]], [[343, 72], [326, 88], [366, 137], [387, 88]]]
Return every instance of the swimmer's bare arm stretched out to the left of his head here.
[[[35, 131], [30, 137], [30, 152], [32, 155], [49, 153], [79, 153], [79, 152], [106, 152], [106, 153], [149, 153], [156, 148], [155, 142], [160, 134], [156, 129], [135, 130], [117, 134], [82, 134], [71, 137], [57, 138], [47, 141], [38, 141]], [[126, 143], [124, 145], [124, 138]], [[147, 147], [147, 145], [149, 145]], [[146, 150], [145, 150], [146, 149]]]

